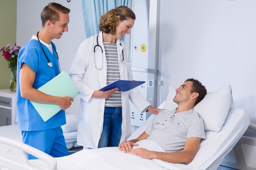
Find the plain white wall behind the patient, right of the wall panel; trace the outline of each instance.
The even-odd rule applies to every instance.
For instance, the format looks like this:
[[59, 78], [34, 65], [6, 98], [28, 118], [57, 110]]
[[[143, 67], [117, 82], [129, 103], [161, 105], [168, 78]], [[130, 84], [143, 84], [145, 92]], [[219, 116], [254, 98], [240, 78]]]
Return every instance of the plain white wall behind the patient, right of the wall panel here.
[[160, 0], [162, 97], [187, 78], [208, 92], [231, 84], [236, 108], [256, 124], [255, 7], [255, 0]]

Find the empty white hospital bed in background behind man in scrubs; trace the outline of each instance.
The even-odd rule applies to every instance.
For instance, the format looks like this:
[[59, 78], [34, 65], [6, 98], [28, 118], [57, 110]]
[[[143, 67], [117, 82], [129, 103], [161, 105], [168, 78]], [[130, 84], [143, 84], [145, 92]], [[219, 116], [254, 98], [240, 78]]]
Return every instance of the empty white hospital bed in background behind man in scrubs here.
[[[78, 121], [79, 101], [75, 99], [70, 108], [66, 110], [66, 124], [61, 126], [65, 142], [70, 153], [79, 150], [81, 146], [77, 145], [77, 121]], [[16, 141], [22, 141], [21, 131], [18, 124], [0, 126], [0, 137], [7, 137]]]

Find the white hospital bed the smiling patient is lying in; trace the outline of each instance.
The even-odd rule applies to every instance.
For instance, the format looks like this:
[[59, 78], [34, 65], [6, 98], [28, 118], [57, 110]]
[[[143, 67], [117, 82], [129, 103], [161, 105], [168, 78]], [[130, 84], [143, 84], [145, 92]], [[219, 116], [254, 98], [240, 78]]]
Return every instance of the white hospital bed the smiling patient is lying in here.
[[[175, 108], [172, 101], [174, 95], [175, 91], [170, 88], [166, 101], [159, 108]], [[249, 117], [245, 110], [233, 108], [232, 101], [231, 87], [228, 85], [207, 93], [195, 106], [194, 110], [204, 120], [206, 139], [201, 141], [197, 154], [188, 165], [143, 159], [123, 153], [117, 147], [85, 149], [69, 156], [53, 158], [16, 140], [0, 137], [0, 167], [8, 170], [216, 170], [249, 126]], [[129, 139], [144, 132], [154, 116], [151, 115]], [[164, 152], [161, 146], [148, 139], [139, 141], [138, 147]], [[38, 159], [27, 160], [26, 153]]]

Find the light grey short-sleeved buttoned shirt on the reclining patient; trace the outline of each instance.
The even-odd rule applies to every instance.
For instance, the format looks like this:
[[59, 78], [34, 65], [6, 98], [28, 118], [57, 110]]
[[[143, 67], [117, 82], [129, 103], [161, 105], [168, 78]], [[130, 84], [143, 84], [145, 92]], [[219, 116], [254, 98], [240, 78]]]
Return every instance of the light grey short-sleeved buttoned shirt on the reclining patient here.
[[204, 122], [193, 109], [180, 113], [161, 110], [146, 129], [147, 139], [156, 141], [166, 152], [182, 151], [186, 139], [205, 139]]

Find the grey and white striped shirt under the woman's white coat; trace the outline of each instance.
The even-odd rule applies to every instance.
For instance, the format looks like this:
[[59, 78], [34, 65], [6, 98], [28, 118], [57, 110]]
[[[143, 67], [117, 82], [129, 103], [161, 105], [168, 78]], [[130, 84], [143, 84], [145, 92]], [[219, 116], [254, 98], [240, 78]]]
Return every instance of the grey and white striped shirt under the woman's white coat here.
[[[107, 84], [120, 79], [117, 44], [103, 42], [107, 60]], [[106, 107], [122, 107], [121, 92], [115, 92], [105, 102]]]

